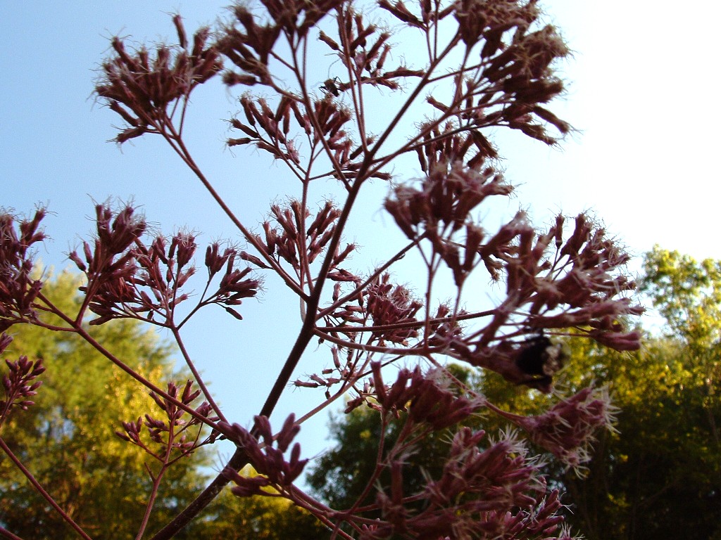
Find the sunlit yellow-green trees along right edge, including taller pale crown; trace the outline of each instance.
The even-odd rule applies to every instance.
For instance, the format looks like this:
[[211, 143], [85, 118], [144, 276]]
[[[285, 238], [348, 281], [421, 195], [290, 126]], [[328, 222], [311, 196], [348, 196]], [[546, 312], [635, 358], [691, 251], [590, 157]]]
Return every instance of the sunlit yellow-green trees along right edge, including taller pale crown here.
[[657, 246], [644, 269], [641, 289], [663, 315], [663, 334], [634, 354], [575, 354], [578, 369], [609, 384], [621, 413], [588, 478], [562, 479], [575, 503], [570, 521], [590, 540], [718, 538], [721, 261]]

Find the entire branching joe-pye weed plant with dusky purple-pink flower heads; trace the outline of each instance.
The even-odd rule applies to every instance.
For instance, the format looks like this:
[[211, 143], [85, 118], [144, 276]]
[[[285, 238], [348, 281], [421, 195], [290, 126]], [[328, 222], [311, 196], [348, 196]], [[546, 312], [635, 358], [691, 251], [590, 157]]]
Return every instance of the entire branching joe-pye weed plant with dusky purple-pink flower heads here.
[[[497, 170], [492, 134], [507, 128], [554, 145], [570, 131], [548, 108], [564, 89], [554, 64], [567, 55], [565, 43], [542, 22], [533, 0], [260, 4], [236, 4], [229, 22], [193, 35], [175, 15], [177, 44], [138, 48], [113, 38], [95, 88], [125, 124], [117, 143], [163, 138], [226, 215], [229, 242], [203, 246], [197, 258], [195, 235], [153, 235], [133, 207], [98, 204], [97, 234], [69, 253], [86, 282], [79, 312], [67, 313], [45, 297], [43, 279], [33, 272], [45, 210], [28, 218], [2, 215], [0, 329], [30, 324], [76, 333], [151, 392], [154, 410], [118, 423], [118, 436], [146, 451], [152, 480], [138, 539], [172, 538], [230, 482], [240, 498], [291, 500], [342, 539], [570, 538], [558, 514], [559, 494], [547, 487], [541, 460], [523, 439], [582, 469], [594, 433], [611, 427], [606, 392], [589, 387], [558, 395], [546, 413], [526, 417], [501, 410], [443, 367], [453, 360], [497, 372], [518, 392], [551, 392], [565, 360], [554, 336], [590, 338], [616, 350], [639, 346], [639, 334], [622, 322], [640, 314], [627, 295], [634, 288], [623, 272], [628, 256], [588, 215], [559, 215], [544, 229], [524, 212], [500, 228], [481, 220], [489, 200], [513, 191]], [[423, 47], [404, 51], [404, 43]], [[205, 176], [184, 138], [190, 96], [214, 77], [239, 99], [239, 112], [228, 120], [232, 153], [241, 160], [268, 158], [297, 180], [287, 199], [270, 203], [260, 224], [239, 219], [239, 209], [216, 191], [224, 179]], [[420, 178], [408, 174], [410, 163]], [[259, 181], [243, 178], [242, 163], [239, 176], [240, 183]], [[361, 212], [361, 191], [371, 184], [377, 191], [381, 183], [387, 197], [378, 207], [404, 240], [394, 256], [361, 271], [351, 258], [359, 247], [345, 240], [354, 234], [348, 224]], [[236, 247], [241, 244], [244, 249]], [[399, 284], [394, 271], [405, 256], [419, 264]], [[301, 322], [283, 328], [296, 340], [251, 423], [228, 418], [218, 406], [182, 335], [187, 321], [213, 304], [244, 324], [242, 301], [261, 284], [264, 294], [292, 292]], [[479, 285], [499, 293], [490, 309]], [[449, 289], [453, 295], [439, 301]], [[273, 320], [274, 314], [264, 316]], [[146, 379], [94, 340], [88, 323], [118, 318], [167, 330], [192, 378]], [[10, 341], [3, 333], [0, 349]], [[309, 375], [293, 380], [317, 343], [326, 361], [306, 364]], [[242, 343], [229, 347], [240, 350]], [[0, 423], [22, 414], [42, 391], [40, 360], [21, 356], [6, 364]], [[315, 392], [317, 407], [273, 418], [289, 387]], [[363, 497], [374, 493], [372, 505], [358, 500], [329, 508], [296, 485], [308, 460], [293, 439], [304, 420], [333, 402], [345, 403], [347, 411], [370, 407], [381, 426], [402, 419], [393, 444], [382, 434], [377, 441], [377, 466]], [[479, 413], [502, 415], [516, 429], [486, 434], [459, 427]], [[443, 473], [405, 492], [414, 444], [448, 428]], [[1, 434], [1, 449], [27, 481], [79, 536], [90, 538]], [[164, 528], [146, 531], [165, 472], [219, 438], [236, 446], [222, 472]], [[248, 464], [257, 475], [240, 472]], [[390, 472], [389, 485], [378, 482], [382, 471]]]

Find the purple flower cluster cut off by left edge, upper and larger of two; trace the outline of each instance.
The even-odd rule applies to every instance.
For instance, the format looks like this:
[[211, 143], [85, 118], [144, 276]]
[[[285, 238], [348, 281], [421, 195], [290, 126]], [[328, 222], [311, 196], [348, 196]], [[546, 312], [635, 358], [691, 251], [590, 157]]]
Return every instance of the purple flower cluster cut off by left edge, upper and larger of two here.
[[42, 208], [35, 212], [32, 220], [17, 220], [0, 213], [0, 332], [15, 323], [37, 318], [34, 302], [43, 282], [32, 277], [30, 248], [45, 240], [45, 233], [40, 229], [43, 217]]

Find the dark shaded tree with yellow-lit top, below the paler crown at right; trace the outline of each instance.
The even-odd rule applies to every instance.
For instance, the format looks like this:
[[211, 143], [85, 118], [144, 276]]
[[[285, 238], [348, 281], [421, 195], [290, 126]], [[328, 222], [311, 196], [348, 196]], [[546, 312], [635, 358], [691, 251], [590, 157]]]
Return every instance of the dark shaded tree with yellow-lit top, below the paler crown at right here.
[[[644, 351], [602, 353], [596, 372], [620, 408], [619, 433], [601, 438], [588, 477], [557, 472], [574, 501], [569, 521], [589, 539], [710, 538], [721, 512], [721, 407], [704, 407], [685, 348], [650, 339]], [[592, 371], [593, 372], [593, 371]], [[710, 420], [710, 421], [709, 421]]]

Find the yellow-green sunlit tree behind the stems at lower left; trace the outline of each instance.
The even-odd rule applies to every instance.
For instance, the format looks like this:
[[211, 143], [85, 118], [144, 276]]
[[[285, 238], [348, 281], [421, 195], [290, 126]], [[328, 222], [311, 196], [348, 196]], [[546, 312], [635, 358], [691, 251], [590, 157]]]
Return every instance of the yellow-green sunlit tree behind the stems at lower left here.
[[[66, 312], [77, 312], [79, 279], [63, 273], [43, 292]], [[54, 321], [47, 319], [48, 323]], [[35, 405], [15, 410], [2, 436], [35, 478], [74, 520], [95, 538], [133, 538], [143, 516], [154, 463], [137, 446], [115, 436], [120, 422], [155, 409], [148, 393], [123, 377], [72, 333], [31, 325], [13, 328], [4, 357], [43, 358], [47, 371]], [[170, 349], [131, 320], [92, 327], [93, 336], [138, 372], [164, 381], [172, 372]], [[198, 463], [181, 460], [169, 469], [152, 523], [163, 523], [190, 502], [203, 476]], [[0, 455], [0, 523], [25, 538], [76, 538], [25, 477]]]

